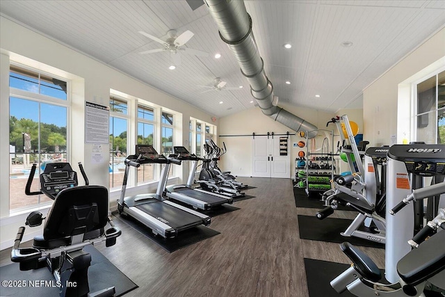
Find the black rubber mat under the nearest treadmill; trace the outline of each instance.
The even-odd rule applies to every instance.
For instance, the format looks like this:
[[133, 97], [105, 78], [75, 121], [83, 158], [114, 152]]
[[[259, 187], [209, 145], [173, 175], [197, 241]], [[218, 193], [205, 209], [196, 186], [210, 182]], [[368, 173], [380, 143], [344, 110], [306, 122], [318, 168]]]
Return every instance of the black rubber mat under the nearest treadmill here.
[[[168, 252], [175, 252], [186, 246], [191, 246], [194, 243], [203, 241], [204, 239], [209, 239], [212, 236], [220, 234], [220, 232], [212, 230], [203, 225], [193, 227], [188, 230], [179, 232], [175, 239], [164, 239], [162, 236], [153, 234], [149, 227], [143, 225], [143, 223], [138, 222], [138, 220], [131, 218], [130, 216], [115, 216], [116, 219], [127, 223], [129, 226], [133, 227], [134, 230], [144, 234], [147, 238], [151, 239], [158, 246], [161, 246], [164, 250]], [[113, 218], [114, 219], [114, 218]]]

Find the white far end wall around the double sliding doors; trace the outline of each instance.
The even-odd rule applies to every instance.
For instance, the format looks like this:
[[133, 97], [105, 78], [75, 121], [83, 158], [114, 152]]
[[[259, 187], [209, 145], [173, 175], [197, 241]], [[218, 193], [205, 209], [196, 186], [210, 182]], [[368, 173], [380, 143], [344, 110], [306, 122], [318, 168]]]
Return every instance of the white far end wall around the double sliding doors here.
[[[297, 115], [307, 122], [316, 125], [318, 129], [325, 129], [326, 122], [332, 117], [333, 113], [325, 113], [315, 109], [306, 109], [286, 104], [280, 104], [280, 107], [286, 111]], [[243, 135], [243, 134], [267, 134], [274, 132], [275, 134], [295, 134], [288, 127], [275, 122], [272, 118], [264, 115], [259, 107], [242, 111], [234, 115], [228, 115], [220, 118], [219, 135]], [[332, 128], [330, 128], [332, 129]], [[296, 156], [300, 149], [293, 148], [293, 143], [302, 140], [300, 136], [291, 136], [289, 141], [289, 150], [291, 152], [291, 177], [295, 170]], [[232, 174], [239, 176], [252, 175], [252, 137], [218, 137], [218, 145], [223, 145], [223, 141], [227, 146], [227, 154], [220, 161], [220, 167], [223, 170], [232, 171]], [[321, 143], [320, 143], [321, 146]]]

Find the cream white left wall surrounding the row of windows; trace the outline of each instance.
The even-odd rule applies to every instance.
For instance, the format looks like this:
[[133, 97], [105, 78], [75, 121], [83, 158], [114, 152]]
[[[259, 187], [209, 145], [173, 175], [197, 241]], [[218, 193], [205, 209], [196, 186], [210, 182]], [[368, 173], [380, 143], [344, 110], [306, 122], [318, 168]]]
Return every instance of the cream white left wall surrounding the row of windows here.
[[[0, 168], [8, 167], [8, 154], [6, 152], [9, 152], [9, 61], [31, 64], [30, 66], [40, 70], [72, 79], [72, 158], [70, 161], [71, 163], [83, 163], [91, 184], [108, 187], [108, 153], [105, 154], [102, 163], [93, 163], [91, 160], [92, 144], [86, 144], [83, 141], [85, 101], [108, 106], [110, 89], [113, 89], [182, 113], [183, 125], [182, 128], [178, 128], [181, 129], [181, 134], [179, 134], [181, 137], [176, 137], [177, 144], [181, 144], [183, 140], [188, 140], [188, 119], [190, 117], [204, 122], [211, 121], [211, 115], [200, 111], [195, 106], [156, 90], [137, 79], [129, 77], [127, 74], [123, 74], [40, 33], [12, 22], [10, 19], [0, 17], [0, 30]], [[218, 125], [218, 122], [214, 124]], [[104, 145], [104, 152], [108, 152], [108, 145]], [[4, 172], [7, 172], [7, 170], [2, 170], [0, 175], [1, 248], [4, 248], [4, 244], [7, 242], [12, 242], [17, 228], [24, 223], [23, 216], [19, 216], [20, 219], [10, 218], [8, 211], [9, 177]], [[183, 172], [179, 172], [180, 176], [184, 172], [188, 172], [188, 168], [183, 168]], [[29, 234], [28, 232], [29, 230], [26, 234]], [[29, 235], [26, 238], [29, 238]]]

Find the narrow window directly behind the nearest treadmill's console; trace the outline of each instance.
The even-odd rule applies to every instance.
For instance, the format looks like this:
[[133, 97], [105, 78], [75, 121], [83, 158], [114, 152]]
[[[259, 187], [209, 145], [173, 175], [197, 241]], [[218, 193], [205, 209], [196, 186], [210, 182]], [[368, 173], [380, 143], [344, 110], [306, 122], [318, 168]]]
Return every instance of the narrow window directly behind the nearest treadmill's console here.
[[[138, 145], [154, 145], [154, 109], [138, 105]], [[138, 184], [154, 180], [155, 165], [143, 164], [138, 168]]]

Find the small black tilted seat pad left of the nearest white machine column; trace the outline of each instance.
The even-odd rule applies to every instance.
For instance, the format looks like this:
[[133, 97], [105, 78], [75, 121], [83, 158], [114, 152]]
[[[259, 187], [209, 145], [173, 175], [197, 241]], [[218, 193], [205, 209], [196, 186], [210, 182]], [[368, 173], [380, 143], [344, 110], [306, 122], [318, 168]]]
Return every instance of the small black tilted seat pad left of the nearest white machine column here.
[[380, 269], [364, 252], [348, 242], [341, 243], [340, 247], [345, 255], [353, 262], [355, 270], [364, 276], [364, 278], [372, 280], [373, 282], [377, 282], [382, 278]]

